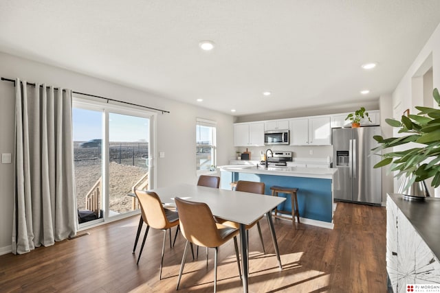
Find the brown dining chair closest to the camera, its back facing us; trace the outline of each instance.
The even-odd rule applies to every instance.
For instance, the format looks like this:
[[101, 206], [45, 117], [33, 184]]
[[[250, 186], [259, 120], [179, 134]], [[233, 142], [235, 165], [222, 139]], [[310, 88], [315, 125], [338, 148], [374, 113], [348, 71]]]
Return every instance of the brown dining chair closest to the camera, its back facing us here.
[[239, 266], [239, 276], [241, 278], [239, 248], [236, 242], [236, 235], [239, 231], [218, 224], [214, 221], [212, 212], [208, 204], [203, 202], [190, 202], [181, 198], [175, 198], [177, 210], [179, 211], [180, 230], [186, 239], [184, 256], [181, 259], [179, 279], [177, 279], [176, 290], [179, 290], [181, 274], [184, 271], [186, 255], [188, 254], [188, 244], [196, 244], [206, 248], [214, 248], [214, 292], [217, 291], [217, 255], [219, 246], [234, 238], [236, 261]]

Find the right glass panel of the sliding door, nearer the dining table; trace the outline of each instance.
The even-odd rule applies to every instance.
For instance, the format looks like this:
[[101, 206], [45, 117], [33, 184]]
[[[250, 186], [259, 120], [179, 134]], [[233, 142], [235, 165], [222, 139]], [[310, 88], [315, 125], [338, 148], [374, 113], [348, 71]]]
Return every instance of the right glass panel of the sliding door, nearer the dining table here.
[[139, 209], [135, 189], [148, 189], [150, 119], [109, 113], [109, 217]]

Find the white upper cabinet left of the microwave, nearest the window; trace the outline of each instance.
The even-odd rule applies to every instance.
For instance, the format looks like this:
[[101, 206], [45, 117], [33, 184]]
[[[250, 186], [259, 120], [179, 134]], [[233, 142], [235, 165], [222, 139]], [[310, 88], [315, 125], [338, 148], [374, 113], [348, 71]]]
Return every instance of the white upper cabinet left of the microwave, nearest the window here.
[[234, 146], [263, 146], [264, 123], [234, 124]]

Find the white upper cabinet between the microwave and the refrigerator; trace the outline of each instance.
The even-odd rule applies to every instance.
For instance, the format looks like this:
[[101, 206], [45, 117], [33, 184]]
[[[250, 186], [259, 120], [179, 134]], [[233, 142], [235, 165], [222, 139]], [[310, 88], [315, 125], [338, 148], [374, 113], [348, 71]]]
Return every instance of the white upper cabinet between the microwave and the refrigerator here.
[[331, 145], [330, 117], [290, 120], [290, 145]]

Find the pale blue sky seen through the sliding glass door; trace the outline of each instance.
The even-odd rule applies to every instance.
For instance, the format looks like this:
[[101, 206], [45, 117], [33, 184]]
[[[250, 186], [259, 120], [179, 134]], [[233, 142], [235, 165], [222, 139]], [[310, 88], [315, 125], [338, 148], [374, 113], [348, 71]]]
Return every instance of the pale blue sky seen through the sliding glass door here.
[[[102, 112], [73, 109], [74, 141], [102, 139]], [[149, 119], [109, 113], [109, 140], [148, 141]]]

